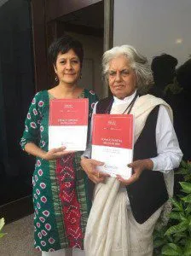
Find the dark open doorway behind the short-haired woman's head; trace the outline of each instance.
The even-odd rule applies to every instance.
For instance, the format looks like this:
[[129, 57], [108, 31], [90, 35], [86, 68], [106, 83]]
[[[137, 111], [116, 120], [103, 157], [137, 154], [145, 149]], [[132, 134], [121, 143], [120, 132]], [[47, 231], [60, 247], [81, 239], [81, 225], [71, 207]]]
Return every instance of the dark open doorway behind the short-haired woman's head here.
[[[54, 31], [55, 30], [55, 31]], [[102, 96], [101, 56], [103, 53], [103, 2], [63, 15], [48, 23], [48, 46], [54, 38], [70, 34], [84, 45], [82, 79], [79, 85], [96, 90]], [[49, 86], [54, 84], [53, 68], [49, 67]]]

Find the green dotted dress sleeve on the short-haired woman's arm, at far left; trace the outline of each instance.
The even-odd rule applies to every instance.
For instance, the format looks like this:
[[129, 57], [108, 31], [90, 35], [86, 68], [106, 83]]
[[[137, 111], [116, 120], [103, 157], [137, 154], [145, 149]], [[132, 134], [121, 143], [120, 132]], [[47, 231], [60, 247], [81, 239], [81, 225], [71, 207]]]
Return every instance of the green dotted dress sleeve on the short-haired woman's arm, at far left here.
[[42, 115], [38, 108], [41, 103], [41, 101], [38, 100], [38, 95], [39, 93], [37, 93], [32, 99], [31, 106], [26, 115], [25, 130], [20, 139], [20, 146], [23, 150], [25, 150], [26, 143], [38, 144], [39, 142], [39, 128]]

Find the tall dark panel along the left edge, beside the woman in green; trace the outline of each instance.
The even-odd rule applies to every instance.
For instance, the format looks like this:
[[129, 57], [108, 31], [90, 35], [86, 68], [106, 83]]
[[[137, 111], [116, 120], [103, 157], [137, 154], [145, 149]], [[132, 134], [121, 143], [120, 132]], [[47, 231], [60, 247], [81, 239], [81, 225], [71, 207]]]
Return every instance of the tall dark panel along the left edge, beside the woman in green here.
[[[32, 194], [33, 159], [20, 150], [29, 102], [34, 94], [30, 4], [9, 0], [0, 8], [0, 216], [6, 207]], [[25, 212], [30, 209], [26, 208]]]

